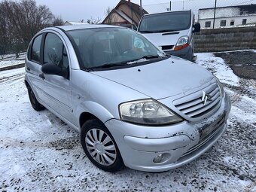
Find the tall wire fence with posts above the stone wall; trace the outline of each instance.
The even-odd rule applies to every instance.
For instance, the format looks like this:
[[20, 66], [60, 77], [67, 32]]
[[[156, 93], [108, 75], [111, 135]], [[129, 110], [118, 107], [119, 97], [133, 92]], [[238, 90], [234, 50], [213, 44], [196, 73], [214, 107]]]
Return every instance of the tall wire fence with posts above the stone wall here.
[[202, 29], [256, 26], [256, 0], [172, 0], [142, 7], [149, 14], [191, 10]]

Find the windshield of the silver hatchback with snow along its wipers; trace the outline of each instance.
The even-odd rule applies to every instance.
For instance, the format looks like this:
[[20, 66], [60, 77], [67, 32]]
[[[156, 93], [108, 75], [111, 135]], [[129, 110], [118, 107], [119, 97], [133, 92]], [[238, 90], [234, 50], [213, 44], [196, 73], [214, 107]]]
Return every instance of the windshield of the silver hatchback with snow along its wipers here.
[[79, 29], [67, 33], [75, 42], [85, 69], [130, 65], [136, 60], [164, 56], [143, 35], [131, 29]]

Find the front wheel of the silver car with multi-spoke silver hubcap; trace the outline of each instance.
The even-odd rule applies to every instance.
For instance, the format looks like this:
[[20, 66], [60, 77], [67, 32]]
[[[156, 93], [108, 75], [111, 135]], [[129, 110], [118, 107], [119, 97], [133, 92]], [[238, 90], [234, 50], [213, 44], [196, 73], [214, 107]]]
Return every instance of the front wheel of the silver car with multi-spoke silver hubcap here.
[[89, 160], [106, 172], [123, 168], [123, 160], [113, 136], [100, 120], [87, 120], [81, 129], [81, 144]]

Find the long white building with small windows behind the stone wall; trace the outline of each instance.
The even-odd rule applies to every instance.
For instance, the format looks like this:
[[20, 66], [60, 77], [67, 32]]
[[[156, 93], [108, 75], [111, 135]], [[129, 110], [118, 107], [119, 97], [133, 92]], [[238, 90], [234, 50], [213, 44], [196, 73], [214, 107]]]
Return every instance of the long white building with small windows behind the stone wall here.
[[201, 28], [213, 27], [214, 12], [215, 28], [256, 24], [256, 5], [251, 4], [216, 8], [216, 11], [215, 8], [200, 9], [198, 22]]

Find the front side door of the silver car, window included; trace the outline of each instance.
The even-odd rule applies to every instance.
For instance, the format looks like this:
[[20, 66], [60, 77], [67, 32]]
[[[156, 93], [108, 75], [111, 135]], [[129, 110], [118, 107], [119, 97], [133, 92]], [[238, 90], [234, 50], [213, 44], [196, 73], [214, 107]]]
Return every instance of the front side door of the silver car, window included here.
[[72, 92], [69, 79], [69, 56], [62, 38], [53, 32], [47, 32], [44, 38], [43, 65], [54, 64], [62, 68], [65, 77], [59, 75], [43, 75], [43, 101], [57, 114], [72, 122]]

